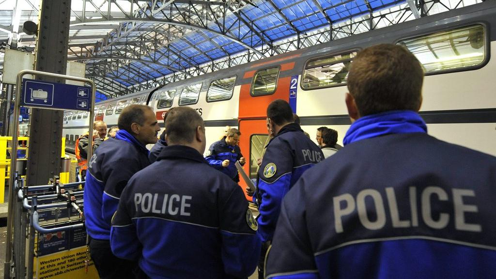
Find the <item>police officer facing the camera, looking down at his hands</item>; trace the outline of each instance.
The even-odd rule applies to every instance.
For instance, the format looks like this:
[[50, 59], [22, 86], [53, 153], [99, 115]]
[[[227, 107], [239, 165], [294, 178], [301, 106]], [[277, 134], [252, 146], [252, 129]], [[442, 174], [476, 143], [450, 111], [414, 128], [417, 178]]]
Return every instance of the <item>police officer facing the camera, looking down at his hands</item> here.
[[238, 145], [240, 136], [240, 130], [236, 128], [229, 129], [226, 132], [226, 136], [210, 145], [205, 157], [208, 164], [227, 174], [235, 182], [240, 181], [238, 169], [235, 165], [236, 161], [239, 160], [242, 166], [246, 163]]

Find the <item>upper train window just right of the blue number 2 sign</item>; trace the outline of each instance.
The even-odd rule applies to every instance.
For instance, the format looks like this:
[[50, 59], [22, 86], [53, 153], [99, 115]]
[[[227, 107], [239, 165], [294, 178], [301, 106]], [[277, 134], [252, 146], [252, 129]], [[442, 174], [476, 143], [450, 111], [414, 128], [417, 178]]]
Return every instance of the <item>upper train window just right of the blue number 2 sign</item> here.
[[302, 88], [313, 89], [346, 84], [350, 64], [355, 56], [357, 56], [356, 51], [310, 60], [303, 72]]

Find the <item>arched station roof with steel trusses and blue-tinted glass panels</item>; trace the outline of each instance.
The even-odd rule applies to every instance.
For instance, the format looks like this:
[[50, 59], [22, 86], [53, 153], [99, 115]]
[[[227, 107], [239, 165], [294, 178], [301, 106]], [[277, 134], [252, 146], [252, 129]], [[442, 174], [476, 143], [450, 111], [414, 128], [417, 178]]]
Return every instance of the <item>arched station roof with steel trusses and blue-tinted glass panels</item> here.
[[[479, 1], [72, 0], [68, 60], [116, 96]], [[0, 0], [1, 47], [21, 25], [17, 47], [34, 51], [22, 23], [38, 6]]]

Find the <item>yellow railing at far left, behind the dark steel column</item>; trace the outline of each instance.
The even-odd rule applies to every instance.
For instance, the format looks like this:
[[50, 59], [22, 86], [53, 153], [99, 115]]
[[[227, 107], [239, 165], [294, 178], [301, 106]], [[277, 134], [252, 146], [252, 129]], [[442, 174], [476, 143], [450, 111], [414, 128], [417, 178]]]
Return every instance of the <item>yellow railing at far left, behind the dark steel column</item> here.
[[[26, 146], [29, 147], [29, 137], [18, 137], [19, 141], [26, 141]], [[10, 145], [12, 142], [12, 137], [0, 137], [0, 204], [3, 203], [5, 195], [5, 180], [10, 176], [10, 150], [12, 149]], [[25, 156], [22, 158], [17, 158], [17, 160], [27, 160], [28, 147], [17, 147], [17, 150], [25, 150]], [[65, 157], [65, 138], [62, 138], [62, 158]], [[61, 182], [69, 182], [69, 173], [61, 173]]]

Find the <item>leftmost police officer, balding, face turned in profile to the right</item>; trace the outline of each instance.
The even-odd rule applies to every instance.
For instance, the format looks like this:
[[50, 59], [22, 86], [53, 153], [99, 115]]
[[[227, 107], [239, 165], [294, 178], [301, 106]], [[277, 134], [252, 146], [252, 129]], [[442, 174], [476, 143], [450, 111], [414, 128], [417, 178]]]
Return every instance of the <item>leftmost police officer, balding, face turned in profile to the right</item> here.
[[107, 139], [91, 157], [84, 187], [84, 216], [91, 258], [100, 279], [134, 278], [133, 263], [110, 249], [110, 221], [131, 176], [150, 164], [145, 145], [157, 141], [155, 113], [145, 105], [126, 107], [115, 139]]

